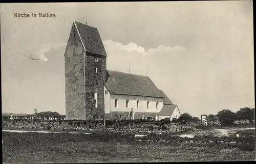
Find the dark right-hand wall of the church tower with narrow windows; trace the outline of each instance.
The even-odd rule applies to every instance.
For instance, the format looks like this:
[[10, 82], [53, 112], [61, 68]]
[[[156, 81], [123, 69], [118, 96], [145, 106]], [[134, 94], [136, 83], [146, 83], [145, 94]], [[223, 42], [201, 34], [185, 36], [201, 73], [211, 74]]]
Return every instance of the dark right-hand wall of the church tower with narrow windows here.
[[[106, 80], [106, 57], [86, 52], [86, 120], [104, 117], [103, 84]], [[95, 58], [98, 57], [98, 62]], [[96, 73], [97, 68], [97, 73]], [[94, 104], [94, 93], [97, 93], [97, 108]]]

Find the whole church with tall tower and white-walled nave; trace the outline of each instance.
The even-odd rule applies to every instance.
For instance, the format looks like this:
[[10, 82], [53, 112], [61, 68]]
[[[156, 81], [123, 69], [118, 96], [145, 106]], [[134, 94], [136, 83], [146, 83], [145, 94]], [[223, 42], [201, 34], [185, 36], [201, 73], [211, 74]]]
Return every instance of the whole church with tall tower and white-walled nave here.
[[97, 28], [74, 21], [64, 56], [67, 120], [179, 118], [150, 77], [106, 70]]

